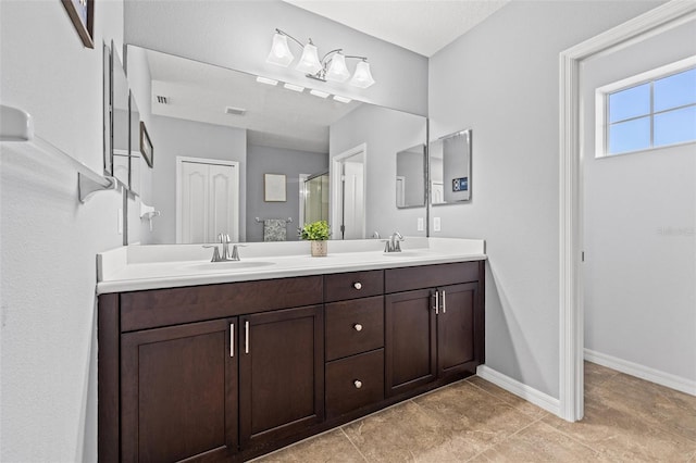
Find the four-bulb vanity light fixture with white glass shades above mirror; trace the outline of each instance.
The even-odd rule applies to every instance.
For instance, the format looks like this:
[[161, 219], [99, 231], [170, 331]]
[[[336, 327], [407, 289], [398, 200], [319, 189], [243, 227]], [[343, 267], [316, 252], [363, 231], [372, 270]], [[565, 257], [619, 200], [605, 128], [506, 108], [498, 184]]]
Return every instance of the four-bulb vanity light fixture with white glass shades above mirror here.
[[321, 82], [346, 82], [350, 77], [350, 71], [348, 71], [348, 66], [346, 65], [346, 59], [350, 58], [361, 61], [358, 62], [356, 72], [348, 84], [359, 88], [368, 88], [374, 84], [368, 58], [347, 55], [344, 54], [341, 48], [337, 48], [324, 54], [320, 60], [319, 50], [316, 46], [312, 43], [312, 39], [309, 39], [307, 45], [302, 45], [302, 42], [297, 40], [295, 37], [281, 29], [275, 29], [271, 52], [265, 60], [268, 63], [287, 67], [290, 65], [293, 60], [295, 60], [295, 55], [287, 43], [288, 37], [302, 47], [302, 57], [295, 68], [304, 73], [307, 77]]

